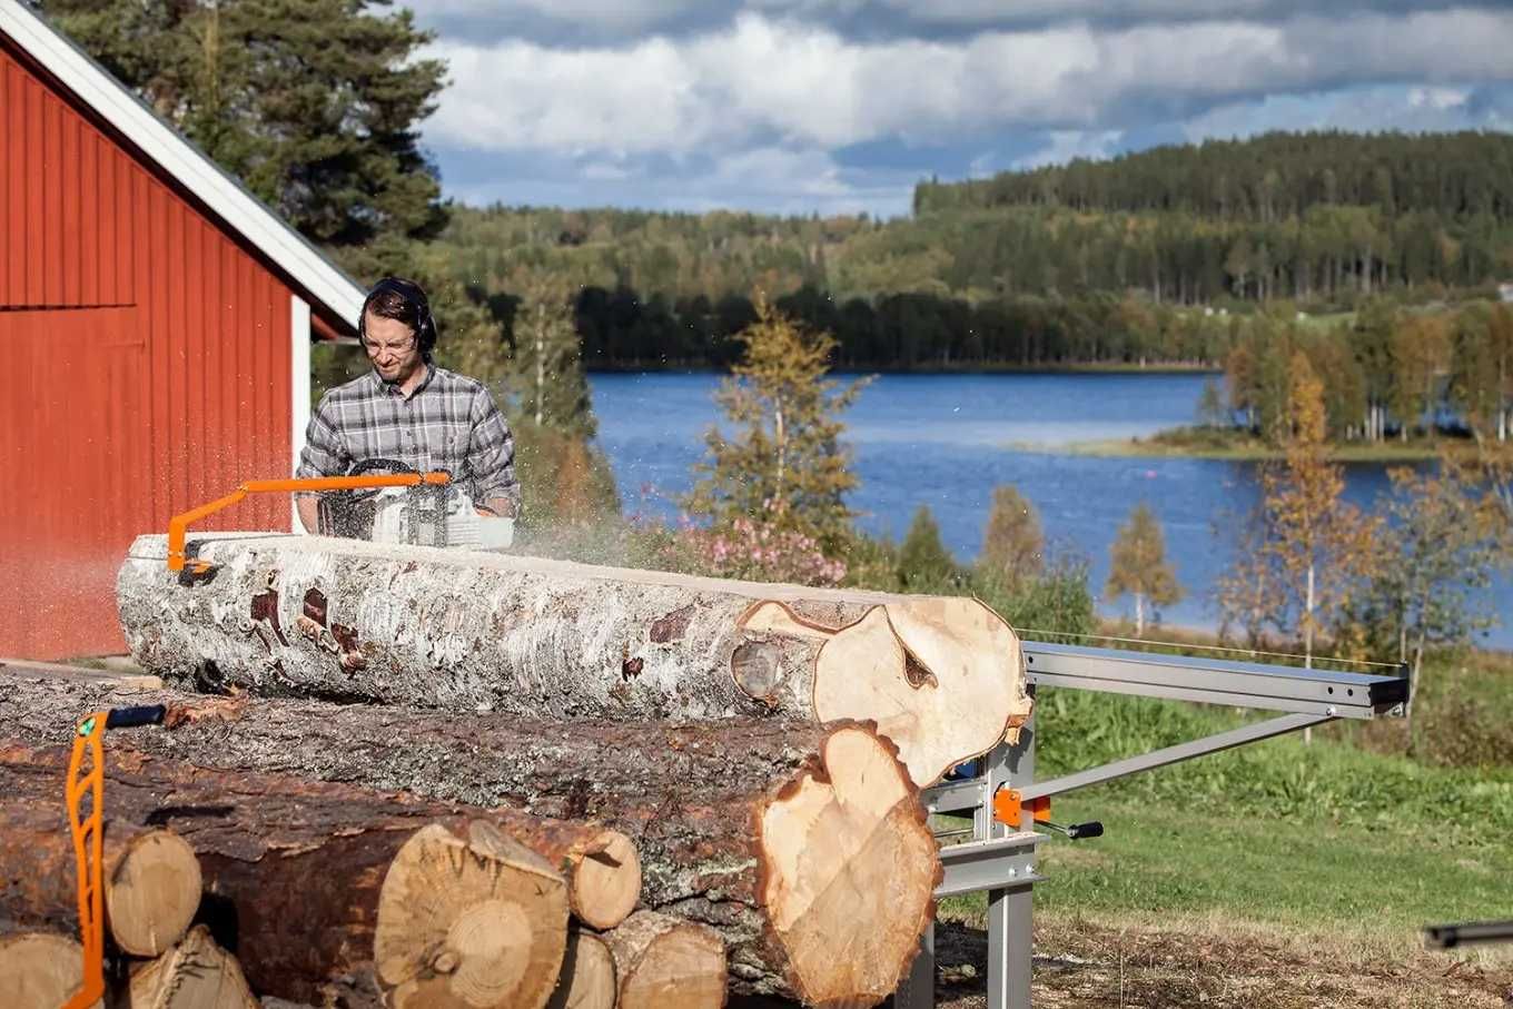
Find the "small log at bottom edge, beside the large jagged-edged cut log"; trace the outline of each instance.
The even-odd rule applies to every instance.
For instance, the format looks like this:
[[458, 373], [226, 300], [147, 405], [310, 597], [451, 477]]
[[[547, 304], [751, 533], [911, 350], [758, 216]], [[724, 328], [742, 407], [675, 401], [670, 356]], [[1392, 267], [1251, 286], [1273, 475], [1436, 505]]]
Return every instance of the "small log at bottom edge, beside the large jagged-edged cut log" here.
[[682, 918], [637, 911], [605, 933], [614, 961], [619, 1009], [720, 1009], [725, 944]]

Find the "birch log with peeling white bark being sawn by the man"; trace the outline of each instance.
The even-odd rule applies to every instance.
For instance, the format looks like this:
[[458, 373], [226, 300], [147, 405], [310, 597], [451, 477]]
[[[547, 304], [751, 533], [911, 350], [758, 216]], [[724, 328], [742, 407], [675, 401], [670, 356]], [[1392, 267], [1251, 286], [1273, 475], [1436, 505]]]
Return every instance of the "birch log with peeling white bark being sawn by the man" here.
[[920, 787], [1027, 719], [1018, 638], [976, 599], [301, 536], [204, 536], [117, 581], [142, 669], [180, 684], [540, 719], [870, 720]]

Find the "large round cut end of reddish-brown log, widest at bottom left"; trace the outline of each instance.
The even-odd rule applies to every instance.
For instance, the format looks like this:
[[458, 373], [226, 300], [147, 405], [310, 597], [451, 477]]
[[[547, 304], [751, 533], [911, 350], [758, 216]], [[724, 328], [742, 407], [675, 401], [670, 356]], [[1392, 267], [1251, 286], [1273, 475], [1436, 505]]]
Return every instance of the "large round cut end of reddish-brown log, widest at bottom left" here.
[[378, 897], [374, 959], [395, 1009], [540, 1009], [566, 942], [561, 876], [484, 821], [468, 840], [416, 830]]

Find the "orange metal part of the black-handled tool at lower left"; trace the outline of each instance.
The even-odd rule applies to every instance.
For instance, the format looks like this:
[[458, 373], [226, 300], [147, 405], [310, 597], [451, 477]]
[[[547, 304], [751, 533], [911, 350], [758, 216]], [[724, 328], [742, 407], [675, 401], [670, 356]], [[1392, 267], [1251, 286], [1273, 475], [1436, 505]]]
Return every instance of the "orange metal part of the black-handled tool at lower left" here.
[[[64, 1009], [88, 1009], [104, 995], [104, 882], [101, 856], [104, 837], [104, 723], [97, 711], [79, 720], [74, 752], [68, 758], [68, 830], [74, 838], [74, 871], [79, 885], [79, 938], [85, 947], [83, 983]], [[86, 767], [88, 756], [88, 767]], [[88, 812], [82, 811], [89, 796]]]

